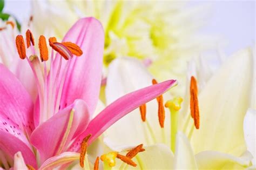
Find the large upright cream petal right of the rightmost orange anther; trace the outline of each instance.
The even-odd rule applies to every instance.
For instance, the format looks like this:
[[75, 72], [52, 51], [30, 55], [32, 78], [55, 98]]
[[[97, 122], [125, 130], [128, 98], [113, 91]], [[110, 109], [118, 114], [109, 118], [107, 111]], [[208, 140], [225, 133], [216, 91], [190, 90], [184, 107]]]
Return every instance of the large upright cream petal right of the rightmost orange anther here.
[[242, 126], [250, 104], [252, 58], [250, 49], [239, 51], [201, 91], [200, 128], [191, 139], [195, 153], [212, 150], [239, 156], [246, 151]]

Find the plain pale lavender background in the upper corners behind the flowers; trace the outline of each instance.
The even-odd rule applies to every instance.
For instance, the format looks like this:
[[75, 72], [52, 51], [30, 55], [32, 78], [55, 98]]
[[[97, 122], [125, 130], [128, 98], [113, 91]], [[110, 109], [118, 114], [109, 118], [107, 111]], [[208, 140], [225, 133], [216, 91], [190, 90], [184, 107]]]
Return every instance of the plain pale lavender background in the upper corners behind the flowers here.
[[[227, 55], [255, 45], [255, 1], [192, 1], [189, 5], [210, 3], [211, 16], [200, 30], [204, 34], [219, 35], [227, 40]], [[14, 14], [19, 21], [28, 17], [30, 1], [5, 1], [4, 12]]]

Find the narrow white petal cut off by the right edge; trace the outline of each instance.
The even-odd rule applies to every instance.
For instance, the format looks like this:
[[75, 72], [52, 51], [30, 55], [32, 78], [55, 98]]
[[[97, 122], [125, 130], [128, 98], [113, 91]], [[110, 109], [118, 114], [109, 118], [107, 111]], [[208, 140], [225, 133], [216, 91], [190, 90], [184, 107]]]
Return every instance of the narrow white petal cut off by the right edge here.
[[256, 165], [256, 110], [249, 108], [244, 120], [244, 135], [248, 151], [254, 157], [253, 164]]

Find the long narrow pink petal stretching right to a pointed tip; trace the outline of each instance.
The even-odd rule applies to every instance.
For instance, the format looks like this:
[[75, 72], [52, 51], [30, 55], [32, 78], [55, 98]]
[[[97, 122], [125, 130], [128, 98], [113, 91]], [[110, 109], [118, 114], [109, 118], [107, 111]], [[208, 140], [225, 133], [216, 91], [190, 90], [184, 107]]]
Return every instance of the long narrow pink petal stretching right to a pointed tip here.
[[[149, 102], [150, 100], [163, 94], [176, 84], [176, 80], [168, 80], [163, 83], [145, 87], [143, 89], [131, 92], [125, 96], [117, 99], [112, 104], [107, 106], [102, 112], [100, 112], [86, 128], [86, 131], [80, 135], [80, 137], [73, 142], [70, 149], [71, 151], [79, 151], [80, 142], [88, 134], [92, 134], [89, 140], [89, 144], [99, 137], [107, 128], [114, 124], [117, 120], [124, 117], [127, 113], [133, 111], [142, 104]], [[127, 126], [127, 125], [124, 125]], [[120, 137], [121, 138], [121, 137]]]

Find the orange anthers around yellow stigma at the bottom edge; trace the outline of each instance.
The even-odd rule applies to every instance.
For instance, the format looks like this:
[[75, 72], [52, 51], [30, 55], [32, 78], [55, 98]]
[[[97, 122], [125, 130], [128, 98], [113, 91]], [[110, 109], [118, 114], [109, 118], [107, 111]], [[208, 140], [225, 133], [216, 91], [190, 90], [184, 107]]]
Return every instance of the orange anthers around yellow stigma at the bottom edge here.
[[[91, 134], [87, 135], [82, 143], [81, 143], [81, 151], [80, 151], [80, 166], [84, 167], [84, 160], [85, 160], [85, 154], [86, 154], [86, 149], [88, 146], [88, 141], [91, 137]], [[109, 167], [113, 167], [116, 165], [116, 158], [122, 160], [128, 165], [131, 165], [133, 167], [136, 167], [137, 164], [132, 161], [132, 158], [134, 158], [139, 152], [143, 152], [145, 149], [143, 148], [143, 144], [140, 144], [132, 149], [130, 149], [126, 155], [119, 154], [118, 152], [109, 152], [107, 154], [103, 154], [100, 156], [100, 160], [103, 162], [106, 162]], [[98, 170], [99, 169], [99, 157], [96, 158], [94, 169]]]

